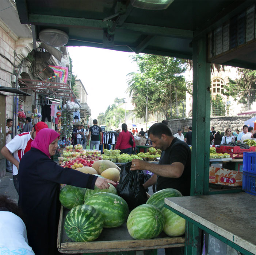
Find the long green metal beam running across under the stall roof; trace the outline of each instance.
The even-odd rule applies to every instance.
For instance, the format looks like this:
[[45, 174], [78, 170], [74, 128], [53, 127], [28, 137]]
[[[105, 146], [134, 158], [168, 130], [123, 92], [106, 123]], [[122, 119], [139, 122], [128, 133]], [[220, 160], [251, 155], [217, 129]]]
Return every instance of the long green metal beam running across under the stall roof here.
[[[52, 25], [52, 26], [66, 26], [66, 27], [88, 27], [95, 29], [107, 29], [108, 21], [103, 22], [97, 19], [84, 19], [84, 18], [73, 18], [73, 17], [62, 17], [62, 16], [50, 16], [40, 14], [29, 14], [28, 24], [35, 25]], [[142, 32], [148, 35], [168, 36], [175, 38], [193, 38], [193, 31], [182, 30], [177, 28], [167, 28], [158, 26], [149, 26], [135, 23], [123, 23], [116, 29], [125, 29], [134, 32]]]

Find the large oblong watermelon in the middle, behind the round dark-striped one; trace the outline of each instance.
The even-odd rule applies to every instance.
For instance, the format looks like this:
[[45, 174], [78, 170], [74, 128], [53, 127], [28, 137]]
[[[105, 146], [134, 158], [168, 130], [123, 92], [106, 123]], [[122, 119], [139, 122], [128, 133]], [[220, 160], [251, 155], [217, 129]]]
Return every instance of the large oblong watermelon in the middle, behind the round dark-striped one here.
[[112, 193], [95, 193], [89, 196], [84, 204], [92, 205], [102, 214], [104, 228], [120, 227], [128, 217], [126, 201]]

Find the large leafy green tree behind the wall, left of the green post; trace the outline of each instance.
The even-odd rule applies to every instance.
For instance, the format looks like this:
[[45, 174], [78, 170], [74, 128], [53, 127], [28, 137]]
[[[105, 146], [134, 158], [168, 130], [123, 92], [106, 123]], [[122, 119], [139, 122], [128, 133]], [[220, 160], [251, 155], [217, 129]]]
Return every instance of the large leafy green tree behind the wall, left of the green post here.
[[127, 92], [132, 97], [136, 117], [146, 115], [147, 95], [149, 113], [161, 111], [166, 119], [179, 115], [181, 101], [186, 98], [182, 75], [186, 71], [186, 60], [147, 54], [138, 54], [132, 59], [137, 62], [139, 72], [128, 74]]

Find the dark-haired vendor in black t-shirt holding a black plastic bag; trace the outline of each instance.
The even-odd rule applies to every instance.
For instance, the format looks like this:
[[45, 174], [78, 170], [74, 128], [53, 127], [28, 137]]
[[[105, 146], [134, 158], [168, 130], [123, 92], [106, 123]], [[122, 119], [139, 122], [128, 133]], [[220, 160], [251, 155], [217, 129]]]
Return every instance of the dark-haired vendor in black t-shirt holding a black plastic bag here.
[[148, 130], [153, 147], [163, 150], [158, 165], [143, 160], [132, 160], [131, 170], [149, 170], [154, 175], [144, 183], [144, 188], [156, 184], [157, 191], [174, 188], [183, 196], [190, 196], [191, 150], [172, 135], [168, 126], [155, 123]]

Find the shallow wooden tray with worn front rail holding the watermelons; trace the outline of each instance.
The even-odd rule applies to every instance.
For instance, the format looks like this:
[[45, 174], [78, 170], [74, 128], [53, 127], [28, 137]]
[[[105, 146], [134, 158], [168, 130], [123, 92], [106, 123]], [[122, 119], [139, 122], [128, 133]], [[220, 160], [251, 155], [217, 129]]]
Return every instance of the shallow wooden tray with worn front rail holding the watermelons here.
[[[183, 237], [171, 238], [163, 232], [157, 238], [134, 240], [128, 233], [126, 223], [119, 228], [103, 228], [99, 238], [92, 242], [72, 242], [64, 230], [64, 221], [68, 211], [68, 209], [61, 206], [57, 239], [57, 247], [61, 253], [80, 254], [104, 252], [104, 254], [107, 254], [110, 252], [147, 250], [145, 254], [149, 254], [148, 250], [184, 246], [185, 240]], [[154, 252], [154, 254], [156, 253]]]

